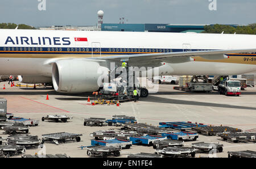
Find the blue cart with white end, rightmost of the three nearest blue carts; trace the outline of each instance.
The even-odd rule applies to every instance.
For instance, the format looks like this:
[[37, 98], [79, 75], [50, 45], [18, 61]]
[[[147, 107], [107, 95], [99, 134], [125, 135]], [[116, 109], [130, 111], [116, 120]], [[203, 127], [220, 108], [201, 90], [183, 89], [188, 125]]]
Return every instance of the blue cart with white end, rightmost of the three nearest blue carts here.
[[162, 133], [163, 137], [171, 138], [172, 140], [193, 140], [199, 137], [197, 133], [178, 132], [178, 133]]

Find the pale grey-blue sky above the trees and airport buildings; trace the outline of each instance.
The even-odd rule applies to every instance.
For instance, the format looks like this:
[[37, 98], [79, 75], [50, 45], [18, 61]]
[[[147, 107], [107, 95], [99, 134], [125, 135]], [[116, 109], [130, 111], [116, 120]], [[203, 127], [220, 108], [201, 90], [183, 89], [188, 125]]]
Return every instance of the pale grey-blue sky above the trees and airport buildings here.
[[[38, 8], [42, 1], [45, 10]], [[124, 17], [127, 23], [250, 24], [255, 7], [255, 0], [1, 0], [0, 23], [95, 26], [103, 10], [104, 23]]]

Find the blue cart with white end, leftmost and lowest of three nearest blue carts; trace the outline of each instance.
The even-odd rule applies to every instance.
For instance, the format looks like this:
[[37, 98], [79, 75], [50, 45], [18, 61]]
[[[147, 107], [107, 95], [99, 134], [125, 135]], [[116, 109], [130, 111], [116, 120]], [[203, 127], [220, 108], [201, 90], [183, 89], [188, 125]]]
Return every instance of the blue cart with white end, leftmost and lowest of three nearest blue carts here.
[[91, 140], [92, 146], [113, 146], [121, 149], [130, 149], [132, 142], [127, 140], [112, 139], [112, 140]]

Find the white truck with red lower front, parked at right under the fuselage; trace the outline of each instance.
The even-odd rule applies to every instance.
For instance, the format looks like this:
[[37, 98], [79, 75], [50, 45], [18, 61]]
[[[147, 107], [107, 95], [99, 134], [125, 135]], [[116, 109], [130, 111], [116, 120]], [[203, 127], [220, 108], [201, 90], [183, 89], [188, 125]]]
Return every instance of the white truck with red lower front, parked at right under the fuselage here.
[[241, 82], [240, 81], [222, 81], [218, 84], [218, 92], [220, 94], [228, 95], [241, 95]]

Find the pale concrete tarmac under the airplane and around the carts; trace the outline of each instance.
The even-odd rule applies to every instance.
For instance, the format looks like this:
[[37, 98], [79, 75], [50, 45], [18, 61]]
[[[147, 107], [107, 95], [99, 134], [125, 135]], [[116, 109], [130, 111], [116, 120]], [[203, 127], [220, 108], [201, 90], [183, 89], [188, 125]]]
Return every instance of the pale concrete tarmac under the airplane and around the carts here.
[[[14, 81], [15, 84], [18, 81]], [[3, 90], [3, 84], [6, 89]], [[7, 112], [14, 113], [15, 117], [24, 117], [40, 120], [39, 126], [31, 126], [30, 134], [69, 132], [82, 134], [81, 141], [71, 141], [55, 145], [45, 143], [47, 154], [67, 154], [70, 157], [88, 157], [86, 150], [78, 147], [89, 146], [90, 133], [98, 130], [117, 128], [115, 126], [84, 126], [84, 118], [103, 117], [112, 119], [113, 115], [135, 116], [138, 122], [158, 125], [164, 121], [192, 121], [210, 125], [227, 125], [243, 131], [256, 132], [256, 88], [247, 87], [242, 94], [225, 96], [217, 91], [209, 93], [184, 92], [174, 90], [175, 85], [159, 84], [159, 91], [150, 94], [147, 98], [140, 98], [138, 102], [121, 103], [116, 105], [90, 105], [88, 96], [95, 99], [90, 93], [60, 94], [52, 88], [10, 87], [8, 82], [0, 83], [0, 98], [7, 99]], [[177, 86], [177, 85], [176, 85]], [[46, 100], [47, 94], [49, 100]], [[72, 116], [69, 122], [42, 121], [47, 115]], [[6, 138], [0, 130], [0, 137]], [[197, 141], [187, 141], [185, 145], [191, 146], [195, 142], [216, 142], [224, 145], [224, 151], [217, 153], [216, 157], [228, 157], [228, 151], [253, 150], [256, 151], [255, 142], [226, 142], [216, 136], [199, 135]], [[26, 154], [39, 153], [42, 149], [27, 149]], [[131, 149], [121, 151], [120, 157], [127, 157], [135, 153], [155, 153], [152, 147], [133, 145]], [[20, 156], [17, 156], [20, 157]], [[208, 154], [197, 153], [196, 157], [208, 157]]]

